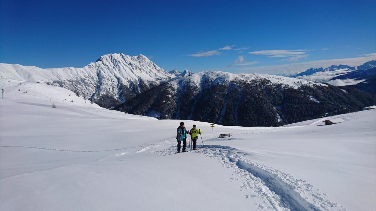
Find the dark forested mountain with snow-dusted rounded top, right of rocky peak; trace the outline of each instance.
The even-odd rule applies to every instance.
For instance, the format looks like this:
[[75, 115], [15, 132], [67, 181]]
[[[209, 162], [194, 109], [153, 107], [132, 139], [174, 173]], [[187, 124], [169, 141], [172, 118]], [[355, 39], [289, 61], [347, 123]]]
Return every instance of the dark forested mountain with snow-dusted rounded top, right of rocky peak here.
[[176, 77], [114, 109], [158, 119], [280, 126], [361, 110], [376, 96], [298, 78], [207, 71]]

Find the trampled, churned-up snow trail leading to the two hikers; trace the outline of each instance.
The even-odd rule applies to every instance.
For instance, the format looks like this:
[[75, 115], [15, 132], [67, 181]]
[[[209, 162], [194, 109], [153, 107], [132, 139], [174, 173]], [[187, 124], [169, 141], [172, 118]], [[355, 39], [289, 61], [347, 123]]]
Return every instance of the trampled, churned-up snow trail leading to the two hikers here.
[[[140, 149], [144, 152], [153, 146], [167, 145], [172, 141], [165, 140]], [[218, 160], [222, 166], [233, 171], [233, 175], [244, 178], [240, 185], [241, 191], [246, 192], [245, 197], [260, 197], [264, 204], [258, 204], [259, 210], [277, 211], [344, 211], [338, 203], [327, 199], [325, 193], [314, 188], [309, 182], [296, 179], [292, 175], [247, 160], [247, 153], [229, 146], [220, 145], [197, 145], [197, 151], [188, 153], [203, 154], [212, 159]], [[176, 145], [159, 151], [150, 151], [158, 156], [173, 155], [176, 153]], [[237, 178], [229, 178], [230, 180]]]

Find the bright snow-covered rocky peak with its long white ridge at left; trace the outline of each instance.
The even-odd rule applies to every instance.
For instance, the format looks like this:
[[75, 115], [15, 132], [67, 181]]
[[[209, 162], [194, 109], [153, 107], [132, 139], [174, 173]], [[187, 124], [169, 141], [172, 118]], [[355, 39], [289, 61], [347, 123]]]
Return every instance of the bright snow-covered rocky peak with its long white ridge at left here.
[[124, 102], [175, 77], [142, 54], [128, 56], [122, 53], [106, 54], [83, 68], [42, 69], [0, 63], [0, 76], [61, 86], [98, 103], [103, 98]]

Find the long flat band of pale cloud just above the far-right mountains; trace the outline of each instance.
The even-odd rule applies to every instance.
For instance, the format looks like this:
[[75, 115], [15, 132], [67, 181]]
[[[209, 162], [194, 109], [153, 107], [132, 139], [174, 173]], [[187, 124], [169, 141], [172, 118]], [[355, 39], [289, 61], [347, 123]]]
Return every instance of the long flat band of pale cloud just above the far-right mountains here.
[[243, 67], [233, 69], [233, 72], [257, 72], [261, 74], [278, 74], [278, 75], [293, 75], [299, 72], [306, 71], [309, 68], [329, 67], [331, 65], [349, 65], [359, 66], [370, 60], [376, 60], [376, 53], [362, 54], [361, 57], [345, 58], [345, 59], [328, 59], [317, 60], [311, 62], [291, 63], [286, 65], [273, 66], [259, 66], [259, 67]]

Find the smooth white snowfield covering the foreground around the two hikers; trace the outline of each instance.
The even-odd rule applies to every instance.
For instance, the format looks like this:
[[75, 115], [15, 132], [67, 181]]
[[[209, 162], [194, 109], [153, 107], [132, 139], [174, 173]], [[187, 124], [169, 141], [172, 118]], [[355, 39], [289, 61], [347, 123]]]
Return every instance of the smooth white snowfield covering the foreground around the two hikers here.
[[[45, 84], [0, 78], [0, 88], [0, 210], [376, 207], [376, 109], [277, 128], [216, 125], [215, 139], [210, 123], [183, 120], [205, 145], [175, 154], [179, 120], [103, 109]], [[331, 118], [345, 122], [323, 125]]]

